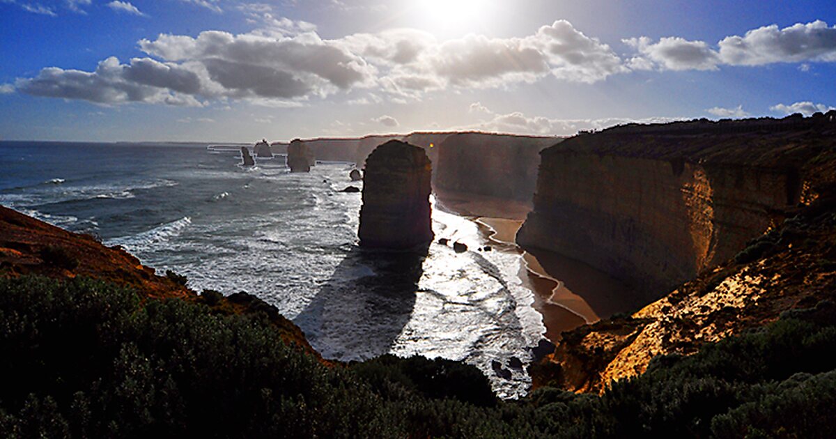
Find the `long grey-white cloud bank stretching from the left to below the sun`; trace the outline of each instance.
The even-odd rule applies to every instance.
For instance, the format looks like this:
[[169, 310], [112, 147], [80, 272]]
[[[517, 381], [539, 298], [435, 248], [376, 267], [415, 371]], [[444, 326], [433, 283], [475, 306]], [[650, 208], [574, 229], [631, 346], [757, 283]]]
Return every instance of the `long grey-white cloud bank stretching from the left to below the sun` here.
[[[141, 14], [128, 2], [115, 0], [108, 6]], [[120, 65], [106, 59], [94, 72], [43, 69], [35, 78], [19, 79], [18, 89], [101, 104], [183, 105], [231, 98], [293, 106], [376, 87], [377, 93], [388, 94], [385, 100], [405, 103], [421, 100], [433, 90], [507, 87], [549, 75], [594, 83], [629, 71], [608, 45], [563, 20], [523, 38], [471, 34], [439, 42], [415, 29], [393, 29], [324, 39], [311, 23], [274, 17], [269, 4], [244, 3], [238, 8], [257, 20], [260, 28], [239, 34], [206, 31], [196, 37], [161, 34], [139, 42], [145, 54], [159, 60], [132, 59]], [[94, 87], [102, 89], [85, 89]], [[364, 98], [352, 103], [378, 101]]]

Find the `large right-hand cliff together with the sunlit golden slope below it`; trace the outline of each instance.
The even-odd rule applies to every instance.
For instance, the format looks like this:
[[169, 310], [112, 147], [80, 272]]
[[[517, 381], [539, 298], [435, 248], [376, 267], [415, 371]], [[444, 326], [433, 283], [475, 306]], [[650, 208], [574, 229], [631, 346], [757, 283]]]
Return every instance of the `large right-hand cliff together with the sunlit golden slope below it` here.
[[690, 355], [836, 299], [834, 134], [822, 117], [697, 121], [543, 151], [535, 210], [517, 239], [664, 297], [563, 333], [533, 368], [535, 385], [604, 391], [657, 355]]

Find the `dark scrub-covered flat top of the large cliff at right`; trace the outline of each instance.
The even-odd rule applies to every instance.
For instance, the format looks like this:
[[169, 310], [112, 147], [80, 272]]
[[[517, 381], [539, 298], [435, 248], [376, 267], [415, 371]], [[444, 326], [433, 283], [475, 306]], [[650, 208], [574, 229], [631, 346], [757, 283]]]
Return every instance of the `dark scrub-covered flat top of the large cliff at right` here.
[[[583, 132], [543, 151], [543, 156], [591, 153], [716, 165], [802, 168], [833, 155], [836, 110], [809, 118], [706, 119], [657, 125], [621, 125]], [[822, 161], [822, 159], [819, 159]], [[831, 160], [827, 160], [831, 161]]]

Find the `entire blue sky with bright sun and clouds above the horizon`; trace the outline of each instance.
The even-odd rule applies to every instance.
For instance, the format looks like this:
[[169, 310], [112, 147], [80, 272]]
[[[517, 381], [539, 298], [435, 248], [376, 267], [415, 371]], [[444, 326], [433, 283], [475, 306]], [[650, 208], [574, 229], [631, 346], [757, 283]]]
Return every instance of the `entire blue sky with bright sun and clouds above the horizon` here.
[[573, 135], [834, 79], [833, 0], [0, 0], [0, 140]]

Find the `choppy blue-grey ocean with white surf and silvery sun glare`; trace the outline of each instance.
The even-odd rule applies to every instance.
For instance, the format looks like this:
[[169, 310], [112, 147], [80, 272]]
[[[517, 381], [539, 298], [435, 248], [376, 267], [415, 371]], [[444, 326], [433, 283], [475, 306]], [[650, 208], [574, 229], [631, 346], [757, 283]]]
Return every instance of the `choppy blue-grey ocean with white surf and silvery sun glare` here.
[[326, 358], [463, 360], [498, 396], [525, 394], [546, 329], [519, 252], [435, 202], [426, 256], [360, 250], [360, 194], [342, 191], [362, 186], [352, 164], [290, 173], [283, 156], [257, 160], [241, 166], [236, 145], [0, 142], [0, 204], [120, 245], [196, 291], [255, 294]]

